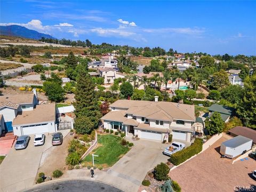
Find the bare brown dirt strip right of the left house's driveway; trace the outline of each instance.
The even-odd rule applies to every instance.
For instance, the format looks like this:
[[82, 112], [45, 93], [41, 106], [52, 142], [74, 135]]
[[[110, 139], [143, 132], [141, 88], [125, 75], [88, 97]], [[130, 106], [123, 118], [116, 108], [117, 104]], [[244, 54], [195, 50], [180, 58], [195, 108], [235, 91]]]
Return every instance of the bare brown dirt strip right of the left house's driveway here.
[[52, 175], [54, 170], [61, 170], [63, 173], [67, 170], [66, 168], [66, 157], [68, 155], [68, 145], [69, 141], [74, 138], [74, 134], [67, 134], [63, 138], [63, 143], [60, 146], [55, 146], [51, 151], [45, 151], [44, 153], [49, 153], [44, 159], [43, 164], [39, 167], [38, 173], [43, 172], [45, 175]]

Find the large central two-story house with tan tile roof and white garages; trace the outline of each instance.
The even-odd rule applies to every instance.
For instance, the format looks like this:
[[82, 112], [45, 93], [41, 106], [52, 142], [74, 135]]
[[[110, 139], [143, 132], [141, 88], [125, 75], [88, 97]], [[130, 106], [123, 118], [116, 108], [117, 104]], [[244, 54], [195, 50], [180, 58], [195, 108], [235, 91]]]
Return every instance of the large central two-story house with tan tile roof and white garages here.
[[195, 122], [195, 107], [173, 102], [117, 100], [101, 119], [105, 129], [157, 141], [173, 139], [190, 142]]

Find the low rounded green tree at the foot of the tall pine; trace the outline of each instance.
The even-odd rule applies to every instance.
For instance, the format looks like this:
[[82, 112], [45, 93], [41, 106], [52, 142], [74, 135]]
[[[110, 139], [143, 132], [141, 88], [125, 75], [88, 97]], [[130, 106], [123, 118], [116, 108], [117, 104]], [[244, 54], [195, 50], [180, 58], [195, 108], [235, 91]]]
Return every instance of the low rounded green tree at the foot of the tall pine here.
[[93, 122], [86, 116], [80, 116], [75, 119], [75, 130], [80, 134], [90, 134], [94, 128]]

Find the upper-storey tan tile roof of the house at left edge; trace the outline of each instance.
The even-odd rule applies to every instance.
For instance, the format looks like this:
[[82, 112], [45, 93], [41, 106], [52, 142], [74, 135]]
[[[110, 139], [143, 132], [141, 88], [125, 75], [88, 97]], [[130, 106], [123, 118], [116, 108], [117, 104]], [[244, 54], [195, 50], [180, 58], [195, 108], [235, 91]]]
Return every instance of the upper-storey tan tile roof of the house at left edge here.
[[33, 103], [34, 93], [29, 94], [5, 94], [0, 96], [0, 106], [11, 101], [13, 104]]

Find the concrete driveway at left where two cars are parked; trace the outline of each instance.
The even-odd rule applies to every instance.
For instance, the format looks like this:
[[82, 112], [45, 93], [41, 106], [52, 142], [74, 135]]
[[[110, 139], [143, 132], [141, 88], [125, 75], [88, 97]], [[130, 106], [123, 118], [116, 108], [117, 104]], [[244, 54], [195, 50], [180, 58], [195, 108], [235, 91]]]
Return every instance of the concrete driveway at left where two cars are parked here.
[[[65, 137], [69, 130], [60, 131]], [[65, 133], [65, 134], [64, 134]], [[52, 146], [52, 135], [46, 134], [43, 146], [34, 146], [34, 135], [30, 135], [26, 149], [15, 150], [14, 145], [0, 165], [0, 189], [2, 191], [20, 191], [34, 185], [42, 154]]]

